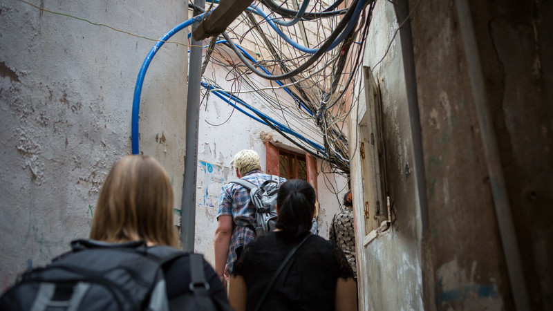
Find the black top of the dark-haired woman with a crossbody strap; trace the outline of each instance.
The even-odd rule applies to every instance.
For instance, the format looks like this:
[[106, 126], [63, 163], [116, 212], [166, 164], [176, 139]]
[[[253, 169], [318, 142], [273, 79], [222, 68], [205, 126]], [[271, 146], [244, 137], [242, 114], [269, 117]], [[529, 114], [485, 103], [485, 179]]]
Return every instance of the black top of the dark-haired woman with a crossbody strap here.
[[[247, 310], [256, 308], [274, 272], [303, 237], [271, 232], [245, 247], [232, 274], [244, 278]], [[338, 278], [353, 278], [346, 256], [335, 243], [311, 236], [274, 283], [261, 310], [334, 310]]]

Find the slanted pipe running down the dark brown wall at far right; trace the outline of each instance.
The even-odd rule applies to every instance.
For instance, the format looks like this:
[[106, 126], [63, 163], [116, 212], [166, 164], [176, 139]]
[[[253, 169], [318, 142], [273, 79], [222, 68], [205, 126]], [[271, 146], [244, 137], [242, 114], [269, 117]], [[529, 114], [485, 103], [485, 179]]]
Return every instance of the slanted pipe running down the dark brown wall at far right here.
[[489, 116], [484, 73], [482, 73], [482, 66], [480, 64], [480, 55], [478, 53], [478, 45], [476, 44], [471, 11], [467, 0], [456, 0], [455, 2], [462, 41], [465, 54], [467, 55], [467, 68], [469, 70], [474, 103], [476, 104], [478, 125], [480, 126], [482, 144], [484, 145], [491, 193], [494, 197], [499, 234], [503, 243], [507, 272], [509, 273], [509, 283], [511, 283], [516, 310], [531, 310], [494, 125]]

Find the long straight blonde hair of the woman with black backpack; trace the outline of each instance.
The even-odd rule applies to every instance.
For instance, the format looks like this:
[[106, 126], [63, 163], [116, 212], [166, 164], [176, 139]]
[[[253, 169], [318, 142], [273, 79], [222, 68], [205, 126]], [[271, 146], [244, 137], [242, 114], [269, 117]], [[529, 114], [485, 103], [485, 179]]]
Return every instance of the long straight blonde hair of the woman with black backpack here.
[[90, 238], [109, 243], [147, 241], [178, 247], [169, 175], [150, 156], [125, 156], [109, 171]]

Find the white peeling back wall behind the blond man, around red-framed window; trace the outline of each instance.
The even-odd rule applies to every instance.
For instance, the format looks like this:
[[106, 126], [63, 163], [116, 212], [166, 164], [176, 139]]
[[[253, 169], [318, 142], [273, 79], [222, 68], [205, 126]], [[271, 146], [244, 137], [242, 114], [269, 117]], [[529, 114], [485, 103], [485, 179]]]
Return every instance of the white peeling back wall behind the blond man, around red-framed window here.
[[[216, 53], [214, 53], [216, 55]], [[232, 52], [223, 53], [225, 57], [232, 56]], [[238, 62], [236, 57], [232, 58]], [[210, 63], [205, 71], [205, 77], [214, 79], [221, 88], [233, 90], [235, 95], [240, 97], [248, 104], [252, 104], [256, 109], [260, 109], [263, 113], [267, 113], [271, 117], [275, 117], [274, 111], [268, 109], [268, 104], [261, 102], [260, 98], [254, 93], [239, 93], [239, 91], [247, 91], [245, 79], [239, 78], [236, 80], [226, 81], [231, 76], [227, 70]], [[264, 81], [255, 75], [247, 75], [246, 79], [258, 84], [260, 87], [268, 88], [272, 84]], [[268, 91], [271, 95], [279, 97], [279, 100], [286, 102], [290, 99], [290, 95], [282, 90]], [[263, 108], [265, 107], [265, 108]], [[242, 107], [243, 108], [243, 107]], [[297, 125], [293, 118], [288, 118], [290, 124]], [[305, 126], [303, 126], [305, 127]], [[295, 129], [295, 128], [294, 128]], [[307, 129], [306, 129], [307, 130]], [[221, 192], [221, 187], [229, 180], [236, 179], [236, 172], [232, 167], [234, 154], [242, 149], [253, 149], [259, 153], [261, 158], [261, 169], [266, 168], [266, 152], [265, 141], [270, 140], [276, 142], [279, 146], [283, 146], [297, 153], [305, 153], [295, 147], [291, 142], [283, 138], [279, 133], [270, 129], [256, 120], [244, 115], [240, 111], [233, 109], [227, 102], [221, 100], [215, 95], [209, 95], [207, 100], [202, 102], [200, 106], [200, 125], [198, 134], [198, 160], [214, 164], [214, 169], [221, 169], [221, 177], [223, 182], [217, 178], [205, 181], [205, 173], [203, 167], [198, 166], [198, 191], [196, 197], [201, 200], [201, 197], [206, 192], [215, 200]], [[328, 167], [328, 163], [322, 163], [324, 167]], [[334, 214], [339, 211], [339, 202], [345, 191], [347, 191], [346, 178], [333, 173], [324, 173], [320, 171], [321, 160], [317, 160], [317, 177], [318, 196], [321, 206], [319, 211], [318, 226], [319, 235], [328, 238], [328, 226], [332, 221]], [[211, 183], [209, 183], [211, 182]], [[338, 192], [339, 194], [335, 194]], [[215, 198], [216, 197], [216, 198]], [[214, 263], [213, 237], [217, 227], [216, 220], [217, 206], [207, 206], [203, 204], [196, 205], [196, 236], [194, 241], [194, 249], [196, 252], [205, 254], [205, 258], [210, 263]]]

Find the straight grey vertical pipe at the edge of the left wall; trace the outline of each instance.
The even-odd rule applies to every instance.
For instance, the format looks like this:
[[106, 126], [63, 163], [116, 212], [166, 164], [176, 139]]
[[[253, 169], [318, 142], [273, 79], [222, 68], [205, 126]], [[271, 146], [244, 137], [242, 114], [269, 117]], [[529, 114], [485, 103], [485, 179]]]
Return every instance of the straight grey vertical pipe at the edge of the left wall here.
[[[194, 0], [204, 8], [205, 0]], [[194, 10], [194, 16], [201, 12]], [[197, 23], [192, 25], [192, 31]], [[196, 176], [198, 167], [198, 124], [200, 117], [200, 82], [202, 76], [202, 41], [191, 39], [186, 104], [185, 178], [182, 182], [180, 206], [180, 243], [185, 252], [194, 252], [196, 230]]]

